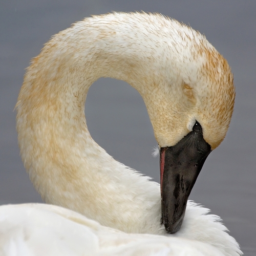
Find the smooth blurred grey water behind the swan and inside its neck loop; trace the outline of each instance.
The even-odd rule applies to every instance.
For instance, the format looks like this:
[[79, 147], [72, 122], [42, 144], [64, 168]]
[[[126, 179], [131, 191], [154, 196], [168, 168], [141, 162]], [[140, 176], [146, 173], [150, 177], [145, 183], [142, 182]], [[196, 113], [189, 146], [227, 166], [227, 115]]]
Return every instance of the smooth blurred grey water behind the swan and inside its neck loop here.
[[[111, 11], [160, 12], [205, 34], [228, 60], [237, 97], [224, 142], [210, 154], [190, 195], [221, 216], [245, 255], [256, 255], [256, 1], [2, 0], [0, 2], [0, 204], [42, 202], [19, 158], [13, 112], [25, 68], [51, 35]], [[125, 165], [159, 182], [157, 145], [142, 98], [104, 78], [89, 90], [89, 131]]]

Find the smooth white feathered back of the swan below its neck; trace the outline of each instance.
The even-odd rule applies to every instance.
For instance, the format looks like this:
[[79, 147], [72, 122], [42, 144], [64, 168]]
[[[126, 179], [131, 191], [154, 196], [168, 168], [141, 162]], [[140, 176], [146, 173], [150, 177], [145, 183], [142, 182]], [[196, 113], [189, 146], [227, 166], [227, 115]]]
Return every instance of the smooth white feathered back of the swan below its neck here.
[[[194, 212], [193, 212], [194, 211]], [[194, 205], [191, 217], [204, 216], [209, 233], [199, 228], [201, 241], [182, 236], [124, 233], [101, 226], [77, 212], [49, 204], [4, 205], [0, 207], [0, 255], [164, 255], [223, 256], [219, 230], [225, 230], [217, 216], [205, 215], [207, 209]], [[193, 220], [192, 220], [193, 221]], [[198, 229], [196, 229], [198, 230]], [[216, 232], [217, 231], [217, 232]], [[177, 233], [178, 234], [178, 233]], [[226, 237], [228, 237], [228, 234]], [[205, 240], [204, 240], [205, 239]], [[211, 245], [209, 239], [214, 239]], [[234, 248], [236, 242], [233, 241]]]

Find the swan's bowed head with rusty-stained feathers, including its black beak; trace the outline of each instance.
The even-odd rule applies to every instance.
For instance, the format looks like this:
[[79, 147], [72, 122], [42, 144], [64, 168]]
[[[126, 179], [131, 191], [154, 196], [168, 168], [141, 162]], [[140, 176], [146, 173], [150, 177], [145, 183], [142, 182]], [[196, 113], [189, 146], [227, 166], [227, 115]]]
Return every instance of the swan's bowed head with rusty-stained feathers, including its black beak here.
[[195, 35], [176, 45], [178, 61], [169, 64], [167, 56], [161, 79], [152, 72], [155, 82], [142, 94], [160, 148], [162, 222], [169, 233], [180, 229], [190, 191], [223, 141], [234, 105], [227, 61]]

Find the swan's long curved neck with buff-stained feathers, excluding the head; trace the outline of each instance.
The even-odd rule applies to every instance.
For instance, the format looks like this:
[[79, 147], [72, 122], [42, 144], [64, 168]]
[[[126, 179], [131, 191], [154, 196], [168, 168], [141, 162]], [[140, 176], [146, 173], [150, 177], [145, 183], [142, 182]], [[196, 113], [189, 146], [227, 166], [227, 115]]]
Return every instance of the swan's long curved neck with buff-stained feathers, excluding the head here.
[[17, 102], [22, 159], [47, 203], [123, 231], [161, 233], [159, 185], [109, 156], [84, 117], [88, 90], [99, 77], [130, 83], [148, 102], [162, 76], [148, 60], [159, 53], [144, 49], [142, 56], [132, 30], [134, 44], [118, 26], [120, 35], [113, 37], [106, 28], [84, 32], [87, 25], [53, 37], [28, 69]]

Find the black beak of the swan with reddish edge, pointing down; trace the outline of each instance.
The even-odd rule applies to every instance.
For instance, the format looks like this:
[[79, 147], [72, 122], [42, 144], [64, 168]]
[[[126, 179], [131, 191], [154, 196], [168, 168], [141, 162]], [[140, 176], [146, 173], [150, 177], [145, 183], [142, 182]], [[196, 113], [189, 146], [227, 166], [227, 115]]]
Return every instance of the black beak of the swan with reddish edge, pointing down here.
[[180, 229], [188, 196], [210, 152], [198, 122], [176, 145], [160, 148], [162, 223], [168, 233]]

